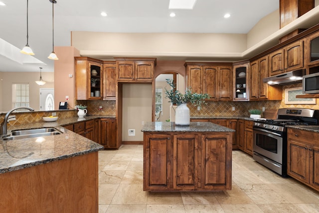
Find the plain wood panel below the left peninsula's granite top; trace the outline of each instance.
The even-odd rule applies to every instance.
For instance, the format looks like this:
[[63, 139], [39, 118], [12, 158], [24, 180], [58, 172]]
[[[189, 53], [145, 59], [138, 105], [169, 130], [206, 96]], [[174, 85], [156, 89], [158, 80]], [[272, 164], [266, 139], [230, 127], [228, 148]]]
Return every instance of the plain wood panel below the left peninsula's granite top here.
[[1, 213], [97, 213], [98, 152], [0, 174]]

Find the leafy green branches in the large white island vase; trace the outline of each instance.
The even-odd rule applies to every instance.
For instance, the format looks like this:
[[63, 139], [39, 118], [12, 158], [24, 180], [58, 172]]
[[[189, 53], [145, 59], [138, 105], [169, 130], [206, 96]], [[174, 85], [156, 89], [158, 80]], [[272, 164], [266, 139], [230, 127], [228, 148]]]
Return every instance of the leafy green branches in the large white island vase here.
[[207, 93], [193, 93], [191, 87], [186, 89], [185, 94], [181, 94], [178, 90], [175, 90], [176, 86], [173, 84], [173, 80], [166, 79], [166, 83], [171, 89], [168, 90], [165, 87], [165, 98], [168, 98], [170, 103], [176, 104], [177, 106], [182, 103], [192, 103], [194, 106], [199, 106], [199, 108], [201, 108], [201, 105], [205, 103], [205, 99], [209, 98]]

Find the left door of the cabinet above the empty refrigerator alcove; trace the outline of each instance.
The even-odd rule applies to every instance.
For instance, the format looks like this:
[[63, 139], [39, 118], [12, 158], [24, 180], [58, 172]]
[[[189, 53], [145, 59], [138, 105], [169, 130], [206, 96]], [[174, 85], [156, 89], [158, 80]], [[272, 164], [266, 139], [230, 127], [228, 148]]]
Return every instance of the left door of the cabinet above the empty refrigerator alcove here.
[[134, 81], [134, 61], [116, 61], [119, 81]]

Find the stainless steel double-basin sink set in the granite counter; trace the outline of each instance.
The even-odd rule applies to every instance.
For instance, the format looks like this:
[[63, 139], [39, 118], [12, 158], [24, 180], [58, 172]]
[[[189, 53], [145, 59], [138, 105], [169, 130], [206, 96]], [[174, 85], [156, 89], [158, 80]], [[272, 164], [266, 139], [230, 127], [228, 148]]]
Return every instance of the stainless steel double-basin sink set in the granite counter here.
[[50, 127], [50, 128], [40, 128], [40, 129], [27, 129], [27, 130], [14, 130], [11, 132], [10, 135], [3, 136], [1, 139], [3, 141], [10, 141], [10, 140], [18, 140], [24, 138], [36, 138], [36, 137], [43, 137], [49, 135], [59, 135], [62, 132]]

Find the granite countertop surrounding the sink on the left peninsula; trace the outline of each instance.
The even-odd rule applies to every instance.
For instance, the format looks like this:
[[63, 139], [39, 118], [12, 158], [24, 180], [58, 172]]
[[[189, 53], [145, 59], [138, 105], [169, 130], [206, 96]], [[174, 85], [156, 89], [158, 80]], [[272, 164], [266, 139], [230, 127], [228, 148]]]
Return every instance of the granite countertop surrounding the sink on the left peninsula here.
[[96, 118], [113, 117], [115, 116], [85, 116], [81, 119], [75, 117], [58, 119], [56, 122], [8, 126], [8, 134], [12, 130], [41, 127], [54, 127], [62, 134], [11, 141], [0, 140], [0, 174], [103, 150], [104, 147], [100, 144], [62, 126]]

